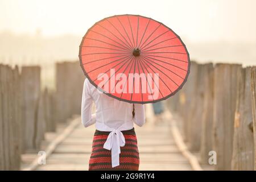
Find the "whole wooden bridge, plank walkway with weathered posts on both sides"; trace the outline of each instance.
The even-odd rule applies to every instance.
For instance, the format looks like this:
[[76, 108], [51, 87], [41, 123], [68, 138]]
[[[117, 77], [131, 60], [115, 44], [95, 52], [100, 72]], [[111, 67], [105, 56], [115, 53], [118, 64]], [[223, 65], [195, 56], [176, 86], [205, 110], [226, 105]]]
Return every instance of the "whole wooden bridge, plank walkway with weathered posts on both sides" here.
[[[82, 74], [57, 63], [51, 90], [41, 88], [40, 67], [0, 64], [0, 170], [88, 169], [95, 129], [81, 125]], [[161, 122], [146, 105], [146, 124], [135, 127], [139, 169], [255, 169], [255, 80], [255, 67], [193, 62]]]

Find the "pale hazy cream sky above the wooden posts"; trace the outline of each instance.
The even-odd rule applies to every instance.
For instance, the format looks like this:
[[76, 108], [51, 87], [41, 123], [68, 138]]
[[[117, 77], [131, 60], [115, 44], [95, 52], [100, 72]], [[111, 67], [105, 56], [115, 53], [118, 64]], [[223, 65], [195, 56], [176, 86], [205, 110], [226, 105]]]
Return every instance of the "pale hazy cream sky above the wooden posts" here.
[[82, 36], [116, 14], [140, 14], [172, 28], [192, 60], [253, 65], [256, 1], [0, 1], [0, 63], [41, 65], [43, 85], [54, 85], [54, 63], [78, 60]]

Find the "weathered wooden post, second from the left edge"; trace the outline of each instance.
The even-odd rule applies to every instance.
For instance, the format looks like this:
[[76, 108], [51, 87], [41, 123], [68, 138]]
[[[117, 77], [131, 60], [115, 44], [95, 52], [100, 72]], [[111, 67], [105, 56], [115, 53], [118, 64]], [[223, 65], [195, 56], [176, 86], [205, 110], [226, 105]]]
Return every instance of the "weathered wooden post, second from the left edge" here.
[[37, 115], [40, 98], [40, 67], [22, 67], [23, 144], [24, 149], [36, 148]]

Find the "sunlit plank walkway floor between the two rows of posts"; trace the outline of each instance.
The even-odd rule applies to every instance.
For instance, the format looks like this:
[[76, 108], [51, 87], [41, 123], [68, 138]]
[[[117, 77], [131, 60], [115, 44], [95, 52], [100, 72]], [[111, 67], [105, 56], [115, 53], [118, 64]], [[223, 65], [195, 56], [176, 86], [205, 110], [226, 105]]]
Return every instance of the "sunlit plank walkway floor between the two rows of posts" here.
[[[135, 127], [141, 159], [139, 170], [192, 170], [189, 160], [180, 152], [182, 147], [177, 146], [177, 141], [172, 135], [172, 122], [165, 119], [159, 125], [155, 125], [152, 119], [154, 118], [151, 112], [147, 112], [146, 124], [143, 127]], [[71, 131], [64, 131], [64, 126], [60, 127], [57, 135], [61, 136], [64, 132], [66, 136], [59, 137], [62, 140], [53, 148], [50, 147], [52, 152], [46, 159], [46, 164], [38, 165], [35, 154], [26, 154], [22, 158], [23, 169], [88, 170], [95, 128], [84, 128], [80, 118], [72, 122], [73, 124], [69, 124], [73, 125]], [[42, 150], [46, 150], [54, 138], [56, 136], [48, 135], [43, 142]], [[32, 160], [35, 166], [31, 168]]]

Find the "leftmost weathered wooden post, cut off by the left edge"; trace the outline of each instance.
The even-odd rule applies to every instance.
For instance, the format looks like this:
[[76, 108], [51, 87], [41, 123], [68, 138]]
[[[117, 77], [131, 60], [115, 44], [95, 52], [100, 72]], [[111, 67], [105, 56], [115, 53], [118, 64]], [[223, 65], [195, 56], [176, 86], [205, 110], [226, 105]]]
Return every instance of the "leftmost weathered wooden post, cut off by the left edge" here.
[[7, 65], [0, 65], [0, 169], [18, 170], [20, 167], [19, 133], [19, 73]]

